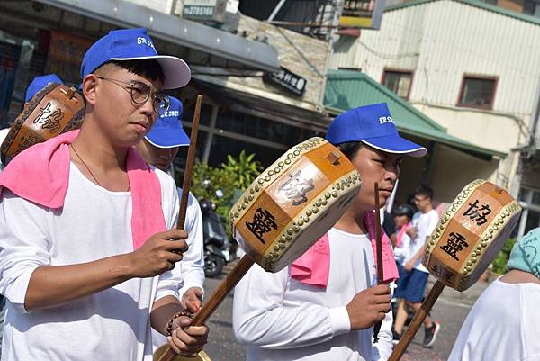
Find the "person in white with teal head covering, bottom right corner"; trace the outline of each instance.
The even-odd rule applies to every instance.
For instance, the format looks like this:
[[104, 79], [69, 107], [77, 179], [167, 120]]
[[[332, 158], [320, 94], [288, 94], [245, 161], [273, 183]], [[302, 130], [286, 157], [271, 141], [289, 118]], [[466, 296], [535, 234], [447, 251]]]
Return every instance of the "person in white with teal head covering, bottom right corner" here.
[[507, 268], [474, 303], [448, 361], [540, 361], [540, 228], [518, 239]]

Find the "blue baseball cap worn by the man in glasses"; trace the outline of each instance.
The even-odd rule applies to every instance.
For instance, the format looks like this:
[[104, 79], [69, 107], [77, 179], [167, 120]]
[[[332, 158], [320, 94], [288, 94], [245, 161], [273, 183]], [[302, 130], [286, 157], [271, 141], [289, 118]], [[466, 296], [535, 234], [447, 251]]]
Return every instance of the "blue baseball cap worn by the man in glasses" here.
[[185, 86], [191, 79], [191, 70], [184, 60], [170, 55], [157, 55], [154, 42], [146, 29], [112, 30], [86, 51], [81, 65], [81, 79], [110, 60], [156, 59], [163, 70], [164, 89]]

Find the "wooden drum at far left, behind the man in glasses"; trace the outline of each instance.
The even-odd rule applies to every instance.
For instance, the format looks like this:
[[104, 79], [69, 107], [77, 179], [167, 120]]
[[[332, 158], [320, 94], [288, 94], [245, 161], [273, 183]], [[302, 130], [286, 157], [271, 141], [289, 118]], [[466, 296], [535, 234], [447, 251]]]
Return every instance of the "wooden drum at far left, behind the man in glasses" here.
[[50, 83], [24, 104], [0, 148], [2, 162], [7, 165], [24, 149], [80, 128], [84, 116], [85, 101], [75, 88]]

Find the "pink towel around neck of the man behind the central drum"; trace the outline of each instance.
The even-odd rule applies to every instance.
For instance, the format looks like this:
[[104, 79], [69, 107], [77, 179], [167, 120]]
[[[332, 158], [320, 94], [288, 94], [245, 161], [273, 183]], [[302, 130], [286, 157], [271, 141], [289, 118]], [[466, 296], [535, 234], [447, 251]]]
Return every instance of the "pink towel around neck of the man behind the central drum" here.
[[[374, 251], [375, 264], [376, 257], [376, 241], [375, 241], [375, 213], [374, 211], [367, 212], [365, 215], [365, 226], [369, 232], [369, 238], [372, 242]], [[398, 268], [393, 257], [390, 239], [382, 230], [383, 243], [383, 283], [390, 283], [399, 278]], [[317, 241], [310, 249], [298, 258], [291, 265], [291, 276], [302, 282], [302, 284], [311, 284], [317, 287], [325, 288], [329, 283], [330, 271], [330, 248], [329, 236], [325, 234]]]

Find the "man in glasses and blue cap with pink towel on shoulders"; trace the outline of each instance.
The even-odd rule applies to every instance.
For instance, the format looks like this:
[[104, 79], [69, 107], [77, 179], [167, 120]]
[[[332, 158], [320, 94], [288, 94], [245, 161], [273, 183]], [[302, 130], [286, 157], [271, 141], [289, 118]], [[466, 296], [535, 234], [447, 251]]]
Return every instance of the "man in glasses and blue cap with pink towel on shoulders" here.
[[183, 280], [170, 272], [187, 249], [175, 183], [133, 148], [167, 110], [162, 90], [185, 86], [190, 70], [128, 29], [90, 47], [81, 77], [81, 130], [0, 174], [2, 360], [150, 360], [150, 324], [193, 356], [208, 329], [183, 329]]

